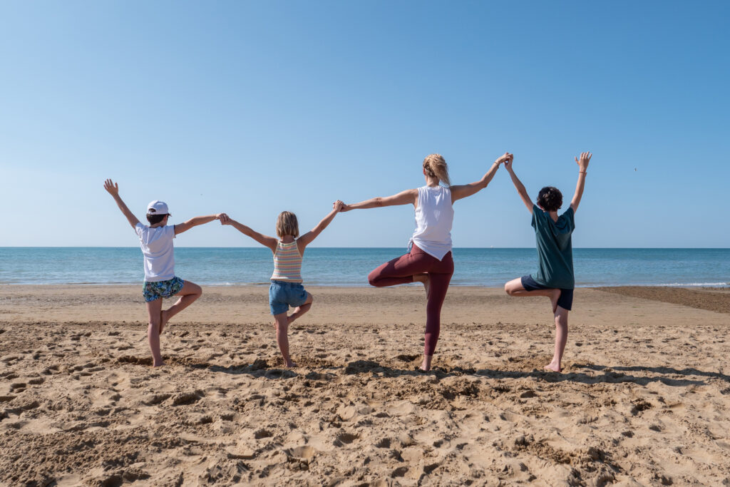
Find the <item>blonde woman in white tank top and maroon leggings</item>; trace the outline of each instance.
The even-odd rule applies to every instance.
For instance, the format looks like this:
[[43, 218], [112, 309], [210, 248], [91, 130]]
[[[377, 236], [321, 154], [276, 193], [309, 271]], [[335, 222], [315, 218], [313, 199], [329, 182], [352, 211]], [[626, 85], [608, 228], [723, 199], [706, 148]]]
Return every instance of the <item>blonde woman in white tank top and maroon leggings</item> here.
[[[342, 211], [388, 207], [396, 204], [412, 204], [415, 207], [415, 231], [410, 239], [409, 253], [378, 266], [368, 275], [371, 285], [388, 285], [419, 282], [426, 287], [426, 343], [423, 350], [422, 370], [431, 369], [436, 343], [441, 327], [441, 306], [446, 297], [454, 264], [451, 258], [451, 223], [453, 202], [472, 196], [487, 187], [499, 164], [509, 160], [504, 153], [492, 164], [489, 171], [476, 183], [451, 186], [448, 166], [440, 154], [423, 159], [423, 177], [426, 185], [407, 189], [393, 196], [373, 198], [355, 204], [345, 204]], [[442, 184], [440, 184], [442, 183]]]

